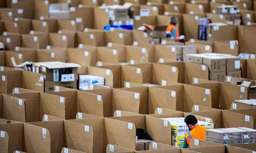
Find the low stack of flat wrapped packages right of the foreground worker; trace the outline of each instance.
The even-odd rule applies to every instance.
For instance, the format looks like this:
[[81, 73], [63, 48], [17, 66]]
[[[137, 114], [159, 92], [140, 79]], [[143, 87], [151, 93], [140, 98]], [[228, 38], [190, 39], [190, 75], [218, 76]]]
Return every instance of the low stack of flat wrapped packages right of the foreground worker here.
[[256, 130], [250, 128], [207, 129], [206, 141], [223, 145], [256, 143]]

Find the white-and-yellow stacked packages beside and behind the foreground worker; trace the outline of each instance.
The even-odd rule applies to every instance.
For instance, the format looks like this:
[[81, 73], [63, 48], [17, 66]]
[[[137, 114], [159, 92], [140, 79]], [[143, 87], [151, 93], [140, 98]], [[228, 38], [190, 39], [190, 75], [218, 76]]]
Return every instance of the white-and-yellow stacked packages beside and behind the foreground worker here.
[[[185, 118], [161, 118], [162, 120], [166, 120], [170, 122], [172, 128], [172, 146], [182, 148], [183, 140], [185, 134], [189, 131], [188, 126], [184, 122]], [[200, 126], [206, 126], [213, 128], [213, 123], [208, 123], [204, 121], [199, 121], [198, 124]]]

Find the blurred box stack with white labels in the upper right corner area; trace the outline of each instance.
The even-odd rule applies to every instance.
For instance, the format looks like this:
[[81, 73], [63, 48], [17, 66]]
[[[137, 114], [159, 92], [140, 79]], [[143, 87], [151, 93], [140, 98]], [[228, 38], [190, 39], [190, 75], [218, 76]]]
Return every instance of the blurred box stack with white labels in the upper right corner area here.
[[222, 5], [217, 6], [214, 11], [216, 14], [223, 14], [227, 21], [231, 21], [234, 24], [240, 24], [241, 14], [238, 14], [238, 8], [234, 5]]

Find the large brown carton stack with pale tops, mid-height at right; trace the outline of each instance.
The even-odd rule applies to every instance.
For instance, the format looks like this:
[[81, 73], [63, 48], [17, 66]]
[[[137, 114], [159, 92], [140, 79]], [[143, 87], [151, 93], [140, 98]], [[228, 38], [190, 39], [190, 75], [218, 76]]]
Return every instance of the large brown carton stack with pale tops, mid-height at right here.
[[[206, 65], [210, 80], [224, 82], [226, 75], [241, 77], [239, 57], [219, 53], [188, 54], [187, 57], [190, 63]], [[204, 66], [202, 70], [205, 70]]]

